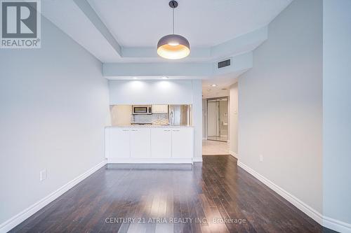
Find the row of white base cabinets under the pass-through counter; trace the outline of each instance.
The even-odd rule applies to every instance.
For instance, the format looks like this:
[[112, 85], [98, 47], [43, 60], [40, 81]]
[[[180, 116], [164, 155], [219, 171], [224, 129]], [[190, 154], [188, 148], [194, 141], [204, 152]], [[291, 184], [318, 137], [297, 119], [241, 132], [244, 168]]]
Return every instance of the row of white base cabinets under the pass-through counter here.
[[192, 127], [107, 127], [108, 163], [192, 163]]

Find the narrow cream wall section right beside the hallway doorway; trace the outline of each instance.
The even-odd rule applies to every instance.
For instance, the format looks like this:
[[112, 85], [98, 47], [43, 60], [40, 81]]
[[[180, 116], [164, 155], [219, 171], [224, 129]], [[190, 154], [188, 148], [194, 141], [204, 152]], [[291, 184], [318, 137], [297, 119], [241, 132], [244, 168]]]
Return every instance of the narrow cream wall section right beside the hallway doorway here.
[[229, 150], [238, 153], [238, 83], [229, 89]]

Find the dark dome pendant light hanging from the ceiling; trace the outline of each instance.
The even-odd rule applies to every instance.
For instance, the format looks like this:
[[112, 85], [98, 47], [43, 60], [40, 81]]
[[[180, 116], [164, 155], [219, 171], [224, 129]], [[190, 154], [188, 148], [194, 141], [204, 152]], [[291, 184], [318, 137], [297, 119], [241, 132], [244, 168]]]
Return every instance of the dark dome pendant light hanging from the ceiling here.
[[190, 43], [184, 36], [174, 34], [174, 8], [178, 6], [178, 2], [170, 1], [169, 6], [173, 10], [173, 34], [159, 39], [157, 54], [166, 59], [182, 59], [190, 55]]

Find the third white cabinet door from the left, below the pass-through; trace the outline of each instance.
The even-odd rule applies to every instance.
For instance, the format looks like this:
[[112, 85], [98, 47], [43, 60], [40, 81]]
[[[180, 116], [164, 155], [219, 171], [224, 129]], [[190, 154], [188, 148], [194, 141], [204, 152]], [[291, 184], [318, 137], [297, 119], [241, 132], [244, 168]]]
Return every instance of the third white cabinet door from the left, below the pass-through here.
[[151, 129], [151, 157], [170, 158], [172, 156], [171, 128]]

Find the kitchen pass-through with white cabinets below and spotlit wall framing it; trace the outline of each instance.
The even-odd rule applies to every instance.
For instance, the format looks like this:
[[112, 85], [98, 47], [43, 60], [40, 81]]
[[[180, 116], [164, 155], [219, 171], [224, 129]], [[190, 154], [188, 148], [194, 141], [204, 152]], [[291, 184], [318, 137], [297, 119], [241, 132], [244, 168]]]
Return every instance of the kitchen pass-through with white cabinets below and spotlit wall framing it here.
[[202, 161], [201, 80], [109, 80], [107, 163]]

